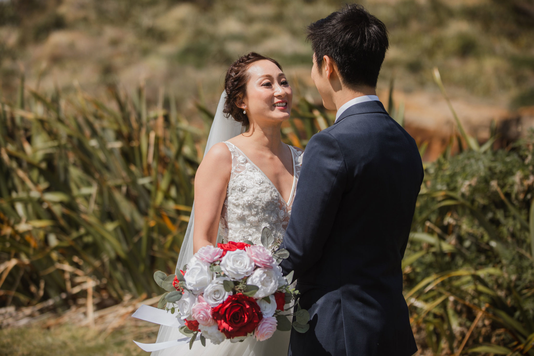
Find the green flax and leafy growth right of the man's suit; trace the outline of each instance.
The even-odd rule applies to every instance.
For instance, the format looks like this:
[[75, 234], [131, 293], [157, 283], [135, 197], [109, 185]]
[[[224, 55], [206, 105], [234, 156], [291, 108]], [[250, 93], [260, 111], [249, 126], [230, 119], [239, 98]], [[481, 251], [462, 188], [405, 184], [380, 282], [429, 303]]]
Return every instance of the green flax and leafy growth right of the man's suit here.
[[458, 135], [426, 165], [402, 263], [412, 325], [436, 355], [534, 355], [534, 133], [480, 145], [434, 78]]

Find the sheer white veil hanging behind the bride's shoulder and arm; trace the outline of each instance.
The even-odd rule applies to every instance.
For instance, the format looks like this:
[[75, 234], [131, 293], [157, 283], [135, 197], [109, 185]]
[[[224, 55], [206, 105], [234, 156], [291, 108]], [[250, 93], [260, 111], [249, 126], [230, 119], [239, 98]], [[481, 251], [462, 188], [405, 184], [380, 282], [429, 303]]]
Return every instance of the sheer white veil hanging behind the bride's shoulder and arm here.
[[[241, 123], [234, 121], [230, 116], [226, 118], [226, 115], [223, 113], [224, 101], [226, 100], [226, 91], [223, 91], [221, 94], [221, 99], [219, 99], [219, 104], [217, 105], [217, 112], [213, 118], [213, 123], [211, 124], [211, 129], [209, 130], [208, 141], [206, 143], [206, 149], [204, 151], [204, 156], [208, 153], [211, 146], [231, 139], [232, 137], [238, 136], [242, 131]], [[191, 217], [189, 223], [187, 224], [187, 230], [185, 231], [184, 241], [182, 242], [182, 248], [180, 248], [180, 254], [178, 255], [178, 262], [176, 263], [176, 270], [180, 270], [183, 266], [193, 257], [193, 225], [194, 225], [194, 203], [193, 210], [191, 211]], [[220, 236], [217, 238], [219, 241]], [[171, 340], [176, 340], [182, 337], [182, 334], [178, 331], [177, 328], [170, 326], [162, 325], [158, 333], [158, 338], [156, 339], [157, 343], [166, 342]], [[170, 349], [164, 349], [160, 351], [152, 352], [152, 356], [171, 356], [173, 354], [172, 347]]]

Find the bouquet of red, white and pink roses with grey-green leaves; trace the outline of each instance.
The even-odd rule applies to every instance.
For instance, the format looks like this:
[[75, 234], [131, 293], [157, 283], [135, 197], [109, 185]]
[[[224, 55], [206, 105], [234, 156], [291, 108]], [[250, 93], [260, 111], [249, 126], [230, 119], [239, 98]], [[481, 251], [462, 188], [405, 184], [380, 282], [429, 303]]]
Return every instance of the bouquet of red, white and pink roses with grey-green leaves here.
[[[169, 276], [154, 273], [156, 283], [168, 291], [158, 308], [177, 313], [183, 320], [179, 330], [191, 336], [190, 348], [199, 333], [202, 345], [206, 345], [206, 338], [214, 344], [225, 339], [241, 342], [247, 337], [263, 341], [276, 329], [289, 331], [293, 327], [301, 333], [309, 329], [310, 315], [298, 305], [299, 291], [290, 287], [293, 272], [282, 276], [279, 267], [289, 252], [271, 250], [274, 238], [266, 227], [261, 241], [263, 246], [250, 241], [205, 246], [184, 271]], [[284, 305], [292, 301], [298, 310], [283, 314]], [[295, 315], [295, 322], [289, 321], [290, 315]]]

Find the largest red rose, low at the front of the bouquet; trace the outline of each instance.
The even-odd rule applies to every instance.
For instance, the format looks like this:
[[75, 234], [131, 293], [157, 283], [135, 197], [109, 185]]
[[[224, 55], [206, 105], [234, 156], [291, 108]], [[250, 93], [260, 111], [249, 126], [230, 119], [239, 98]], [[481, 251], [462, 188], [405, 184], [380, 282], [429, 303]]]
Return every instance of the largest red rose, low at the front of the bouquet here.
[[238, 293], [211, 310], [219, 330], [227, 337], [247, 336], [263, 319], [260, 306], [254, 298]]

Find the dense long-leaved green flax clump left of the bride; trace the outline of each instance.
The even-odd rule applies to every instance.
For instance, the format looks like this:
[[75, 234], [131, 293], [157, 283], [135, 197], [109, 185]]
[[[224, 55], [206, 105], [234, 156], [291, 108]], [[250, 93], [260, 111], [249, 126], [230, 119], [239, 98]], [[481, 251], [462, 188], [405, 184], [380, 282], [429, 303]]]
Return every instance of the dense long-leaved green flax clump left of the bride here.
[[21, 81], [16, 104], [0, 101], [1, 304], [83, 280], [117, 301], [150, 295], [154, 270], [174, 271], [203, 132], [163, 90], [152, 110], [143, 86], [107, 94], [46, 97]]

